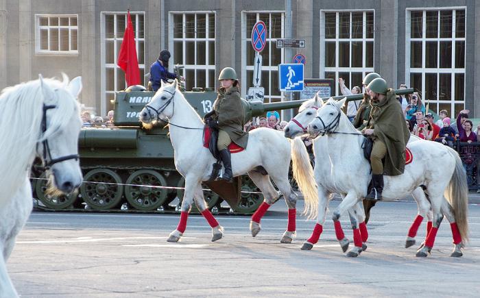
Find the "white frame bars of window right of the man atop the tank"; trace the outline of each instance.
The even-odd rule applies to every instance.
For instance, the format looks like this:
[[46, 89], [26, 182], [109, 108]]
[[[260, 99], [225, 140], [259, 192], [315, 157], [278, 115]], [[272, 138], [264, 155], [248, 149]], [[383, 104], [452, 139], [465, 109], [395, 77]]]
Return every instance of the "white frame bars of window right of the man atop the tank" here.
[[[186, 77], [186, 74], [187, 74], [187, 70], [191, 70], [193, 71], [193, 78], [194, 78], [194, 83], [192, 84], [192, 88], [215, 88], [215, 61], [217, 60], [217, 51], [216, 51], [216, 45], [217, 45], [217, 41], [216, 41], [216, 38], [217, 38], [217, 12], [215, 10], [192, 10], [192, 11], [169, 11], [169, 24], [173, 24], [174, 23], [174, 16], [176, 14], [182, 14], [182, 24], [185, 23], [185, 16], [186, 14], [193, 14], [195, 16], [195, 30], [197, 28], [197, 14], [205, 14], [205, 18], [206, 18], [206, 23], [205, 23], [205, 38], [197, 38], [197, 37], [193, 37], [193, 38], [187, 38], [185, 37], [186, 36], [186, 33], [185, 33], [185, 30], [182, 29], [182, 38], [176, 38], [174, 37], [174, 26], [169, 26], [169, 31], [168, 31], [168, 40], [169, 40], [169, 51], [171, 53], [171, 57], [170, 57], [170, 60], [174, 63], [175, 62], [175, 48], [174, 48], [174, 43], [175, 42], [182, 42], [182, 61], [183, 61], [183, 64], [182, 66], [184, 66], [184, 69], [183, 69], [183, 76]], [[210, 36], [208, 36], [208, 29], [209, 29], [209, 26], [210, 26], [210, 23], [208, 22], [208, 14], [213, 14], [213, 18], [214, 18], [214, 23], [215, 23], [215, 32], [213, 32], [213, 38], [211, 38]], [[194, 49], [193, 49], [193, 53], [195, 55], [195, 58], [194, 58], [194, 61], [195, 63], [194, 64], [185, 64], [186, 62], [186, 47], [185, 47], [185, 42], [194, 42]], [[197, 65], [196, 61], [197, 61], [197, 42], [205, 42], [205, 64], [200, 64], [200, 65]], [[209, 43], [210, 42], [213, 42], [213, 51], [215, 51], [215, 54], [214, 54], [214, 57], [213, 57], [213, 64], [208, 64], [208, 55], [210, 53], [210, 45]], [[169, 65], [169, 71], [173, 71], [173, 63], [171, 63]], [[197, 86], [198, 82], [197, 82], [197, 71], [204, 71], [205, 72], [205, 86]], [[209, 86], [209, 82], [210, 82], [210, 72], [213, 71], [213, 82], [214, 82], [214, 86]]]

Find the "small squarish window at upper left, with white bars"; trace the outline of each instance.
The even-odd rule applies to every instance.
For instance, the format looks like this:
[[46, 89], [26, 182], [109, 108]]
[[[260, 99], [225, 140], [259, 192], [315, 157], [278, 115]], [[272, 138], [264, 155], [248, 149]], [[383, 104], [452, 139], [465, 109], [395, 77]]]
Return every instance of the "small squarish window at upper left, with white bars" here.
[[35, 15], [35, 52], [78, 54], [77, 15]]

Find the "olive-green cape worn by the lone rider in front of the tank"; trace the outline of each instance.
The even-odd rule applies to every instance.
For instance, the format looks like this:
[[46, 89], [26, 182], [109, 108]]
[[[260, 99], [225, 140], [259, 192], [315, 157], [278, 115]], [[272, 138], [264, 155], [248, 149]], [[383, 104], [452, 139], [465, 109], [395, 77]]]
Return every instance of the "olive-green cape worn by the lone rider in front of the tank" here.
[[219, 88], [217, 99], [213, 103], [212, 119], [218, 121], [218, 129], [223, 130], [230, 136], [232, 142], [246, 148], [248, 133], [243, 132], [243, 106], [241, 104], [238, 87]]

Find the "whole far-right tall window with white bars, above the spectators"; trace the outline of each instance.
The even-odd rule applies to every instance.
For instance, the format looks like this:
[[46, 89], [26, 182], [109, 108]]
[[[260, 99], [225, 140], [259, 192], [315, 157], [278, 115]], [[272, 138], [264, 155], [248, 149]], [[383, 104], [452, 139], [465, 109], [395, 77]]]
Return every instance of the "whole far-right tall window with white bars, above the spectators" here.
[[429, 109], [465, 106], [465, 9], [407, 10], [406, 80]]

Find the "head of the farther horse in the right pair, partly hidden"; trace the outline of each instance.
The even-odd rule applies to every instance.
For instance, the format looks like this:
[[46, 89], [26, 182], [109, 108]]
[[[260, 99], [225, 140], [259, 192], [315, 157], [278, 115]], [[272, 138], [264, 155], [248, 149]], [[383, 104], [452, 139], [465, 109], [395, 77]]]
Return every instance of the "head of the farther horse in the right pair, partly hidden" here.
[[305, 101], [300, 106], [298, 114], [283, 129], [285, 138], [295, 138], [301, 134], [307, 134], [307, 125], [315, 118], [317, 110], [322, 104], [322, 99], [316, 94], [313, 99]]

